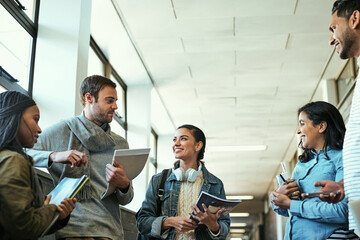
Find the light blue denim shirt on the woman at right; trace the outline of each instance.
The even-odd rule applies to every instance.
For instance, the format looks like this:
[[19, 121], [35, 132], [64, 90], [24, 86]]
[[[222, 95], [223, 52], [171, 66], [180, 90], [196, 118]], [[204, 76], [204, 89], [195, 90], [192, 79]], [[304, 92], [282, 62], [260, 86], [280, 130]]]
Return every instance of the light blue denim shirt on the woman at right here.
[[[313, 158], [308, 162], [298, 162], [292, 179], [301, 193], [316, 192], [316, 181], [343, 179], [342, 150], [327, 148], [328, 160], [324, 150], [312, 152]], [[272, 204], [274, 209], [274, 205]], [[289, 217], [287, 209], [275, 210], [278, 214], [289, 217], [286, 223], [285, 240], [288, 239], [326, 239], [336, 229], [347, 229], [348, 206], [346, 199], [336, 204], [329, 204], [319, 198], [291, 200]]]

